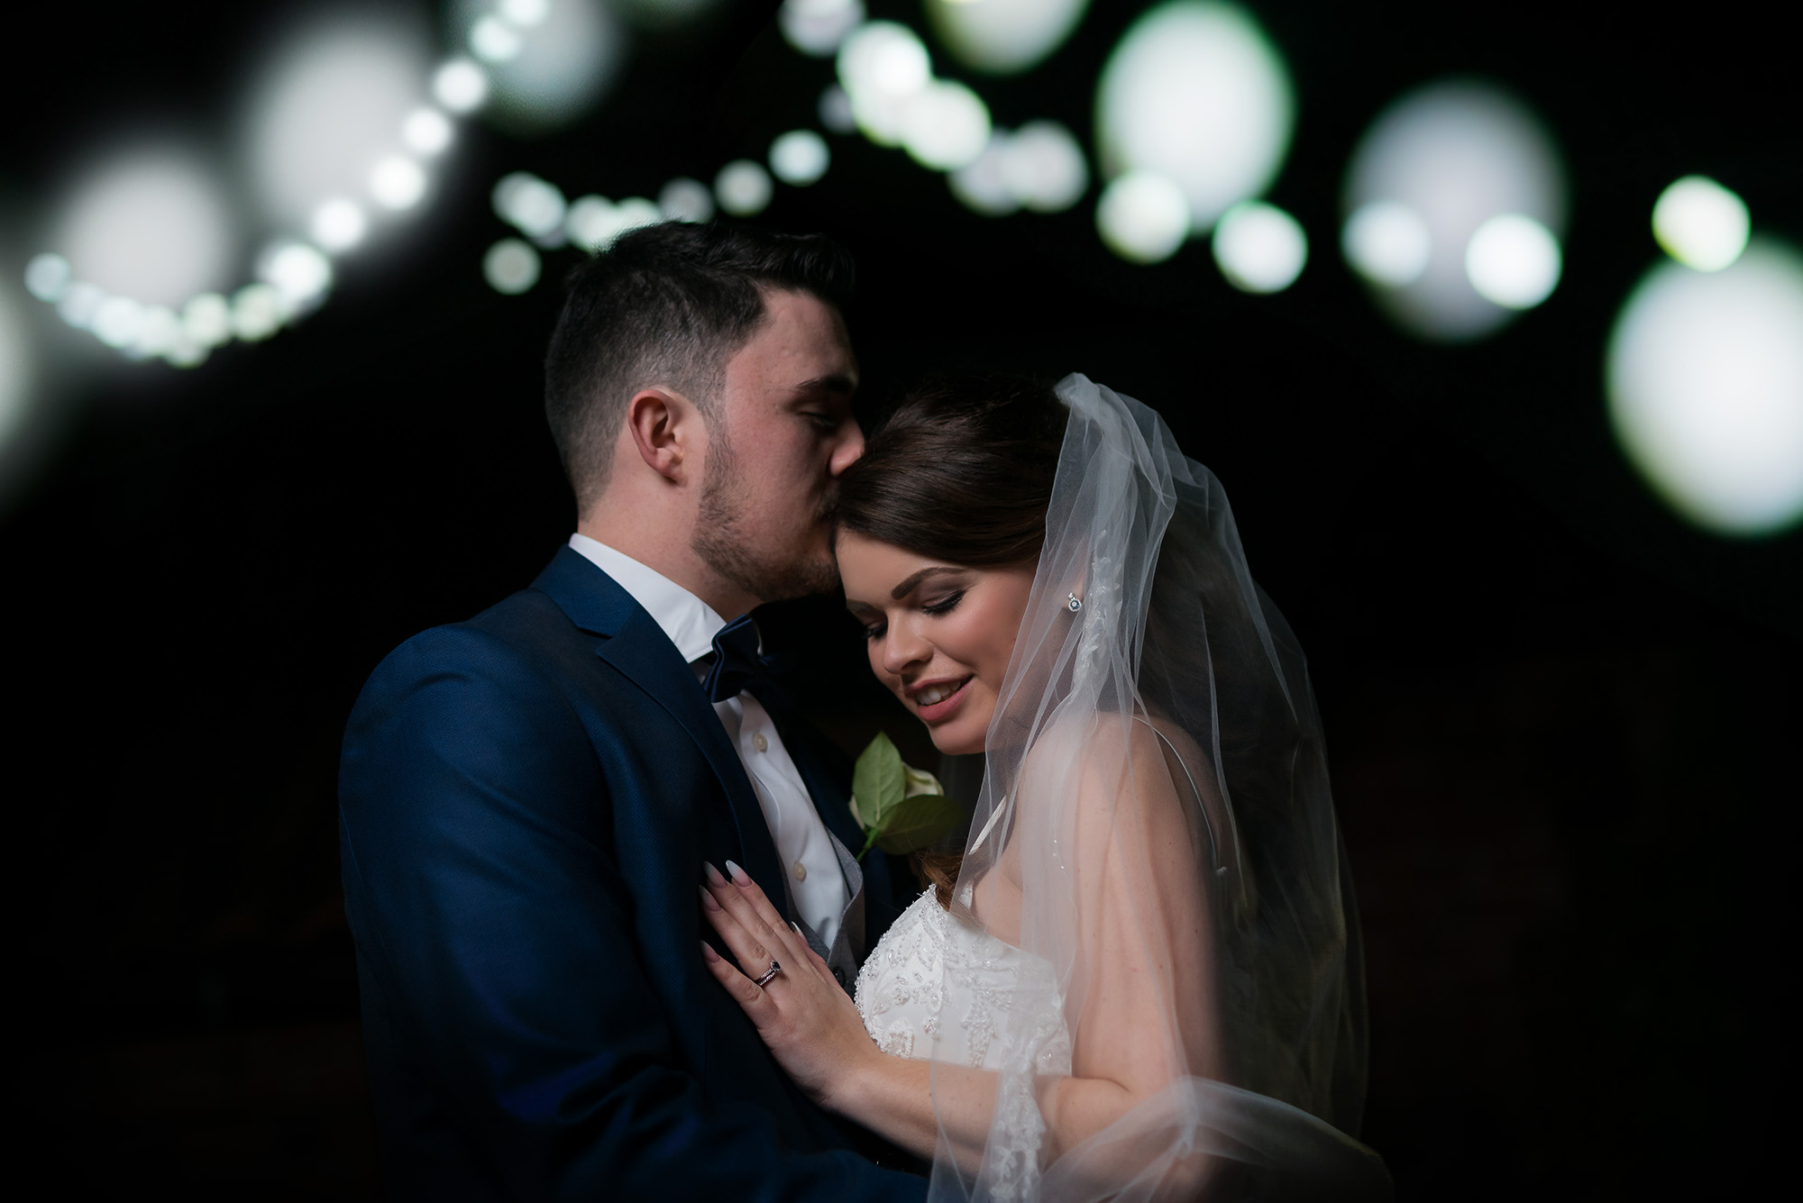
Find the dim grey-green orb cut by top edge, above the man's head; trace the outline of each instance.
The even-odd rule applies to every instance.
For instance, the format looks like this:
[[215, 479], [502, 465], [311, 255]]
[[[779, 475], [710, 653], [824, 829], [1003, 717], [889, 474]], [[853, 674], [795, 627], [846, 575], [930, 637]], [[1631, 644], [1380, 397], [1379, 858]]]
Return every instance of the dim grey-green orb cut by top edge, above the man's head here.
[[[476, 32], [492, 22], [514, 50], [489, 58], [490, 117], [528, 131], [563, 126], [588, 112], [626, 61], [626, 29], [604, 0], [555, 0], [535, 23], [503, 22], [485, 0], [453, 0], [453, 20]], [[494, 40], [503, 49], [503, 40]]]

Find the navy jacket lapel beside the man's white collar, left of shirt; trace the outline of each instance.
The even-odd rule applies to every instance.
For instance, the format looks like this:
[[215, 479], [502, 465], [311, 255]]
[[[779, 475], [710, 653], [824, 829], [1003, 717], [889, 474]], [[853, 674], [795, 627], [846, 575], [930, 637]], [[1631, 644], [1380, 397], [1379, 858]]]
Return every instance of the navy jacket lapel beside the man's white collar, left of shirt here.
[[[752, 791], [752, 780], [745, 774], [745, 764], [727, 738], [719, 715], [707, 702], [676, 645], [629, 592], [570, 547], [559, 549], [534, 582], [534, 589], [550, 594], [577, 627], [604, 636], [597, 656], [651, 695], [696, 742], [727, 794], [727, 805], [739, 830], [739, 863], [766, 888], [772, 904], [788, 918], [784, 891], [773, 888], [783, 877], [783, 866], [763, 807]], [[698, 864], [698, 875], [700, 870]]]

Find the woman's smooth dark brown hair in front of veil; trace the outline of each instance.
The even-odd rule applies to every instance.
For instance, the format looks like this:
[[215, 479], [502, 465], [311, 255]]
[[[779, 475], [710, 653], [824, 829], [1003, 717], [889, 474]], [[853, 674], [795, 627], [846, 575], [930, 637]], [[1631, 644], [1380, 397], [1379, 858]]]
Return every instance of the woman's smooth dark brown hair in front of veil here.
[[[871, 430], [838, 479], [835, 531], [965, 567], [1039, 558], [1069, 418], [1051, 385], [1017, 376], [934, 376]], [[950, 906], [959, 852], [916, 852]]]

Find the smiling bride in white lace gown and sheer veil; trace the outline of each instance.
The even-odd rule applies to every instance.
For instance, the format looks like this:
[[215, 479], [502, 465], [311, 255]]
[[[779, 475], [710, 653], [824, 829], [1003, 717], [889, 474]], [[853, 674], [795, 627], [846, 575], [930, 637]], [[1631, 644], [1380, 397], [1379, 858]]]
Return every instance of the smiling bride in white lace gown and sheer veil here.
[[[932, 1199], [1388, 1198], [1304, 657], [1221, 484], [1069, 376], [903, 400], [840, 483], [871, 670], [986, 756], [961, 857], [856, 999], [712, 866], [703, 945], [795, 1082], [932, 1160]], [[745, 972], [741, 972], [741, 967]]]

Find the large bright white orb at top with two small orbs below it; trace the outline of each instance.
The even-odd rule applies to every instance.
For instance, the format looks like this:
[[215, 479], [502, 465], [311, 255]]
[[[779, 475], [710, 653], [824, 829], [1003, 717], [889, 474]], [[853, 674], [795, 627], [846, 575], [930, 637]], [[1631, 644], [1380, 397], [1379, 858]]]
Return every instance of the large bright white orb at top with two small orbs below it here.
[[1195, 231], [1271, 184], [1293, 122], [1284, 61], [1231, 4], [1152, 9], [1114, 47], [1096, 85], [1103, 171], [1156, 171], [1176, 182]]

